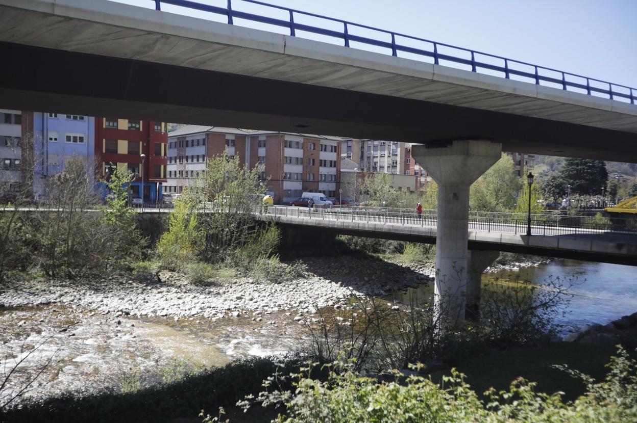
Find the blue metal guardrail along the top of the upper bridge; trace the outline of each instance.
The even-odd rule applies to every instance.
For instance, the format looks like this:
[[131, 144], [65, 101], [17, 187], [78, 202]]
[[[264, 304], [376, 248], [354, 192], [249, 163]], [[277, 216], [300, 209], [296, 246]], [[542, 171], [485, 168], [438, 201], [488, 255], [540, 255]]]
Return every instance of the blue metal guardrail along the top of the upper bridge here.
[[[225, 8], [212, 6], [210, 4], [201, 4], [190, 0], [147, 1], [155, 4], [155, 10], [161, 10], [162, 4], [180, 6], [192, 10], [222, 15], [227, 18], [227, 23], [230, 25], [236, 25], [234, 22], [236, 19], [275, 25], [276, 27], [289, 29], [290, 36], [299, 36], [297, 32], [308, 32], [310, 34], [328, 36], [343, 40], [343, 45], [345, 47], [352, 47], [351, 43], [361, 43], [362, 45], [385, 48], [391, 52], [391, 55], [394, 57], [398, 57], [399, 53], [410, 53], [420, 57], [431, 58], [433, 59], [433, 63], [436, 65], [440, 64], [440, 62], [445, 62], [445, 65], [464, 65], [471, 67], [471, 71], [475, 73], [478, 73], [478, 70], [495, 71], [497, 73], [501, 73], [507, 80], [511, 79], [511, 76], [519, 76], [525, 78], [526, 81], [533, 82], [535, 85], [542, 85], [542, 82], [552, 83], [561, 87], [562, 90], [582, 92], [582, 94], [585, 93], [587, 95], [601, 94], [603, 97], [611, 100], [621, 99], [624, 102], [630, 102], [630, 104], [635, 104], [637, 97], [637, 89], [627, 87], [626, 85], [615, 84], [609, 81], [589, 78], [579, 74], [559, 71], [558, 69], [538, 66], [528, 62], [522, 62], [520, 60], [508, 59], [498, 55], [479, 52], [478, 50], [470, 50], [468, 48], [439, 43], [438, 41], [432, 41], [425, 38], [409, 36], [401, 34], [400, 32], [386, 31], [384, 29], [370, 27], [368, 25], [356, 24], [355, 22], [347, 20], [330, 18], [317, 15], [315, 13], [276, 6], [274, 4], [263, 3], [257, 0], [234, 0], [234, 2], [227, 0], [227, 6]], [[288, 18], [273, 18], [241, 11], [236, 8], [236, 6], [241, 5], [241, 3], [257, 4], [272, 10], [285, 11], [287, 12], [286, 15]], [[334, 30], [303, 24], [299, 22], [299, 18], [301, 17], [318, 18], [325, 20], [326, 22], [335, 22], [338, 25], [342, 25], [343, 29]], [[385, 39], [369, 38], [369, 36], [362, 36], [355, 33], [360, 30], [374, 31], [379, 34], [383, 34]], [[409, 43], [412, 43], [412, 45], [409, 45]], [[415, 47], [413, 46], [414, 43], [419, 43], [420, 46]], [[425, 43], [426, 46], [422, 46], [422, 43]], [[441, 52], [440, 50], [443, 50], [444, 52]], [[446, 52], [447, 50], [451, 51]], [[464, 55], [464, 57], [459, 56], [459, 53]]]

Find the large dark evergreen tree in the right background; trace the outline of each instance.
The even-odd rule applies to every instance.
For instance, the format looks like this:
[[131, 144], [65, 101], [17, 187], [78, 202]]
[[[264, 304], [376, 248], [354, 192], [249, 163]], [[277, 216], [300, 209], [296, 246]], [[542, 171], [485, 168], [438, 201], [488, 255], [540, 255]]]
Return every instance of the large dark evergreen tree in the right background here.
[[599, 195], [608, 183], [608, 171], [602, 160], [566, 158], [559, 177], [571, 186], [571, 193]]

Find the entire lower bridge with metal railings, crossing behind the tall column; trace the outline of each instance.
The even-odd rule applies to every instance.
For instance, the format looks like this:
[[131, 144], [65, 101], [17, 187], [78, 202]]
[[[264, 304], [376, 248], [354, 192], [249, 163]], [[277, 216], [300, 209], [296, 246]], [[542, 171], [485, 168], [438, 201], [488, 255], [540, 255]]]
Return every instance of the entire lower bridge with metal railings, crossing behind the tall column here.
[[[424, 210], [419, 216], [411, 209], [275, 206], [256, 216], [295, 230], [299, 240], [318, 230], [322, 235], [436, 244], [434, 210]], [[637, 225], [627, 223], [613, 218], [532, 214], [529, 236], [525, 214], [470, 212], [468, 249], [637, 265]]]

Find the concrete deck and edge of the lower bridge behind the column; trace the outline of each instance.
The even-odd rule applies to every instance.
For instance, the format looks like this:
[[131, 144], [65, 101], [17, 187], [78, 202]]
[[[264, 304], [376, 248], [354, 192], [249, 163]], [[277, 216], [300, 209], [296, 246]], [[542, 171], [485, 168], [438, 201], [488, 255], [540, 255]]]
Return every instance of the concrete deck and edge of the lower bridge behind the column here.
[[[426, 215], [418, 219], [409, 211], [403, 216], [385, 216], [382, 213], [355, 213], [338, 209], [312, 212], [299, 207], [271, 207], [267, 214], [256, 216], [279, 225], [320, 228], [339, 235], [436, 244], [436, 219], [427, 218]], [[526, 235], [526, 220], [519, 223], [489, 223], [469, 218], [468, 248], [637, 266], [637, 232], [568, 226], [547, 228], [536, 221], [531, 233], [531, 237]]]

